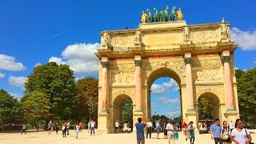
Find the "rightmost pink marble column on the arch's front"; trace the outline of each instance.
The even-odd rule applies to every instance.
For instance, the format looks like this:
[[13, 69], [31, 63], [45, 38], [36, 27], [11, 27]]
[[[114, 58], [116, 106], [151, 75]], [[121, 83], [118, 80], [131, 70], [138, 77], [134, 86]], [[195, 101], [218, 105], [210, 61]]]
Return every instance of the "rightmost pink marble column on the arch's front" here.
[[227, 99], [228, 109], [234, 110], [234, 95], [232, 78], [230, 73], [230, 56], [222, 56], [222, 62], [224, 66], [224, 83], [225, 83], [225, 95]]

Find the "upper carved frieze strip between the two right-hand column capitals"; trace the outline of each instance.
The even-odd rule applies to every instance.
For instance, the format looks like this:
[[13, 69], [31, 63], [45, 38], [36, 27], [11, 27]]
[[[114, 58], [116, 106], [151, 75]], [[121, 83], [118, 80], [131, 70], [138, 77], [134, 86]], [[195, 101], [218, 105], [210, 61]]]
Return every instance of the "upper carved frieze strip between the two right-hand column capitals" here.
[[193, 61], [193, 66], [222, 66], [220, 59], [201, 59]]

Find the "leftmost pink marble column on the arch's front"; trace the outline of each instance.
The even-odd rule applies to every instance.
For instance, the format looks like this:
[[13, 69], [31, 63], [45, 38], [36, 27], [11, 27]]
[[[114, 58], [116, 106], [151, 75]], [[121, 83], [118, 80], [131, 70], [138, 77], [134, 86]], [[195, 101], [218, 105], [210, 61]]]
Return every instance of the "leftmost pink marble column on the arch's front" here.
[[107, 62], [102, 62], [102, 110], [106, 110], [107, 98]]

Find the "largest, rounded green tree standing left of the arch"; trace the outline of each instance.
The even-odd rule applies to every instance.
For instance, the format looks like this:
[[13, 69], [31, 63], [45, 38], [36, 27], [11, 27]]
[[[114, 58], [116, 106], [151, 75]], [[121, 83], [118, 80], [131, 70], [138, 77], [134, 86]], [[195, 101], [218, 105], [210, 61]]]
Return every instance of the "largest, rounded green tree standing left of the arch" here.
[[50, 102], [49, 119], [68, 119], [74, 114], [74, 97], [76, 87], [74, 72], [68, 65], [48, 62], [34, 68], [33, 74], [28, 76], [25, 83], [25, 95], [32, 94], [35, 90], [47, 95]]

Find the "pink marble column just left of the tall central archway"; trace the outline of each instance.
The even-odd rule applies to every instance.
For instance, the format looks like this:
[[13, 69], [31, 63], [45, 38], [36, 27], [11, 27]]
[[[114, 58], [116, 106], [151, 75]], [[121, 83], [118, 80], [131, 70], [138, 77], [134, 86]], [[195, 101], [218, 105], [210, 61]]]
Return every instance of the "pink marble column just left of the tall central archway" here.
[[135, 86], [136, 86], [136, 111], [142, 110], [142, 81], [141, 81], [141, 60], [135, 62]]

